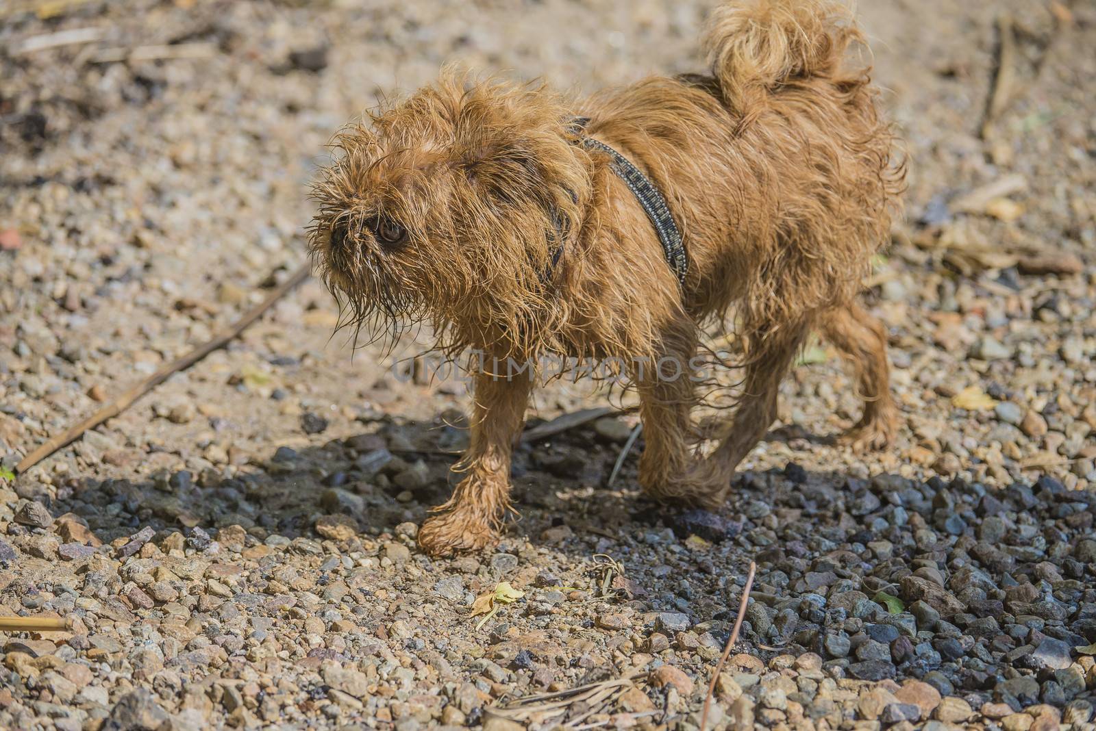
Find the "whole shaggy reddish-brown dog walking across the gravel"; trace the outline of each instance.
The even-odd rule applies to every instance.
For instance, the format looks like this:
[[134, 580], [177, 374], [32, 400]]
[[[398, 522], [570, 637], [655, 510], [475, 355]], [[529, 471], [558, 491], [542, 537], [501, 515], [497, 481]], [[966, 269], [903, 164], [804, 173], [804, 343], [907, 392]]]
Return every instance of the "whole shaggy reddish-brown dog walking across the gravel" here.
[[[844, 62], [859, 42], [835, 3], [743, 0], [708, 24], [710, 76], [575, 101], [445, 72], [338, 136], [315, 188], [312, 252], [358, 325], [429, 321], [446, 351], [500, 359], [688, 363], [703, 327], [733, 305], [742, 394], [706, 459], [689, 418], [696, 381], [628, 368], [646, 427], [639, 480], [652, 497], [720, 504], [812, 329], [855, 366], [866, 403], [854, 436], [879, 446], [897, 416], [886, 335], [856, 298], [903, 169], [867, 70]], [[590, 118], [584, 129], [575, 115]], [[683, 285], [608, 153], [583, 136], [665, 197], [688, 257]], [[419, 533], [432, 554], [484, 546], [510, 507], [511, 449], [534, 385], [510, 375], [475, 375], [466, 475]]]

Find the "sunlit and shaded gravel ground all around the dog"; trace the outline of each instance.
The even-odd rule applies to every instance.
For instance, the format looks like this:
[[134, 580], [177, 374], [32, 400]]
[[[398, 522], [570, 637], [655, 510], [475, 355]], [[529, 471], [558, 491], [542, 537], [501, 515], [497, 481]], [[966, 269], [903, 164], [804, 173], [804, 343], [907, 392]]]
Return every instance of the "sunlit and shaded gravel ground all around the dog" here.
[[[5, 467], [288, 276], [322, 146], [378, 95], [446, 60], [583, 90], [694, 70], [709, 3], [362, 4], [0, 8]], [[0, 634], [0, 728], [693, 729], [751, 559], [721, 727], [1094, 728], [1096, 7], [864, 4], [911, 158], [871, 282], [893, 448], [833, 441], [856, 398], [811, 348], [718, 514], [643, 502], [635, 452], [605, 487], [635, 423], [609, 416], [520, 450], [496, 548], [432, 560], [468, 397], [331, 337], [309, 282], [0, 477], [0, 615], [75, 618]], [[557, 383], [535, 417], [606, 403]], [[502, 581], [522, 595], [472, 616]]]

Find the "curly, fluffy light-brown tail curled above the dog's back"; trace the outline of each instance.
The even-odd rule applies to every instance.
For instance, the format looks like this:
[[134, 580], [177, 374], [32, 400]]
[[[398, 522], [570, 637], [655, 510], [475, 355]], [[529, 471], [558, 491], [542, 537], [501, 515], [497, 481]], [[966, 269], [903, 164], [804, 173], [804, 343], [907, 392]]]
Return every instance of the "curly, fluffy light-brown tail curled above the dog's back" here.
[[746, 121], [781, 85], [841, 74], [846, 48], [858, 40], [852, 12], [834, 0], [728, 0], [701, 43], [724, 104]]

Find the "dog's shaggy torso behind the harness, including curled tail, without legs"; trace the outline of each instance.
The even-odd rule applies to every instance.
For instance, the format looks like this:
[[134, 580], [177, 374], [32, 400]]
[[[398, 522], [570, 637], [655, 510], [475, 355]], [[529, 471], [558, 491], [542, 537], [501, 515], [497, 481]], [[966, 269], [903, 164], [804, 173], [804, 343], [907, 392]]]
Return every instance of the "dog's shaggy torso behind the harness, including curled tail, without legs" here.
[[[590, 134], [633, 154], [681, 211], [698, 316], [772, 322], [840, 306], [886, 241], [903, 169], [877, 113], [863, 36], [830, 0], [715, 10], [707, 76], [652, 78], [590, 101]], [[779, 277], [784, 281], [774, 281]]]

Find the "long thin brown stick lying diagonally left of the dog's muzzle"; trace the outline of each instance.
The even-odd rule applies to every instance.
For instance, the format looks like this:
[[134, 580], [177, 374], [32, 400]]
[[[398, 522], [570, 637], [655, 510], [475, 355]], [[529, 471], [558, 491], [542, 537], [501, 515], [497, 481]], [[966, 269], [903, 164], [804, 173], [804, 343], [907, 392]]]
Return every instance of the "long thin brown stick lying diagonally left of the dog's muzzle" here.
[[176, 358], [170, 363], [163, 366], [156, 373], [148, 376], [147, 379], [138, 383], [129, 391], [126, 391], [125, 393], [115, 396], [113, 399], [107, 402], [101, 409], [89, 416], [83, 421], [80, 421], [76, 426], [69, 427], [62, 433], [48, 440], [45, 444], [43, 444], [38, 449], [27, 454], [25, 457], [23, 457], [23, 461], [20, 462], [18, 465], [15, 465], [15, 472], [20, 474], [26, 472], [27, 469], [30, 469], [31, 467], [33, 467], [34, 465], [36, 465], [37, 463], [42, 462], [47, 456], [56, 452], [57, 450], [75, 442], [83, 434], [83, 432], [88, 431], [89, 429], [98, 427], [103, 421], [106, 421], [107, 419], [111, 419], [121, 414], [122, 411], [126, 410], [135, 401], [137, 401], [138, 398], [147, 394], [149, 391], [151, 391], [156, 386], [167, 381], [174, 373], [178, 373], [179, 371], [190, 368], [194, 363], [198, 362], [199, 360], [208, 356], [214, 350], [224, 348], [230, 341], [235, 340], [240, 335], [240, 333], [247, 329], [249, 325], [259, 320], [259, 317], [264, 312], [270, 310], [275, 302], [285, 297], [286, 293], [288, 293], [297, 285], [308, 279], [308, 275], [310, 271], [311, 271], [311, 264], [302, 265], [299, 269], [289, 275], [288, 279], [286, 279], [284, 282], [275, 287], [274, 291], [272, 291], [266, 297], [265, 300], [256, 304], [254, 308], [249, 310], [242, 317], [236, 321], [236, 323], [233, 323], [231, 327], [229, 327], [224, 333], [221, 333], [214, 339], [209, 340], [208, 343], [205, 343], [204, 345], [198, 346], [194, 350], [191, 350], [185, 356]]

